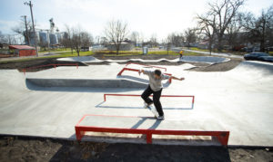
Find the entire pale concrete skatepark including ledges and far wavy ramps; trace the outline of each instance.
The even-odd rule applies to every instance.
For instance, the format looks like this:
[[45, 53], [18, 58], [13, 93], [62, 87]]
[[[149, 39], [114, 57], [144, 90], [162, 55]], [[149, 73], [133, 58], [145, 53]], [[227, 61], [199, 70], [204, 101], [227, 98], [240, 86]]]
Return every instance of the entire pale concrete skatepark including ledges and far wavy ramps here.
[[[228, 61], [211, 58], [194, 60], [188, 57], [186, 62]], [[129, 61], [100, 61], [93, 57], [80, 59], [84, 63], [109, 64], [63, 66], [25, 74], [17, 70], [1, 70], [0, 133], [76, 140], [75, 127], [78, 123], [114, 129], [228, 131], [227, 145], [230, 146], [273, 145], [273, 129], [270, 129], [273, 124], [272, 63], [240, 62], [231, 71], [201, 72], [187, 71], [195, 67], [189, 63], [150, 67], [119, 64]], [[66, 58], [66, 61], [69, 60], [75, 61], [75, 58]], [[162, 95], [169, 96], [161, 98], [165, 120], [154, 119], [149, 110], [143, 109], [143, 100], [134, 96], [141, 95], [147, 87], [147, 76], [139, 76], [136, 71], [130, 70], [117, 76], [124, 68], [161, 68], [163, 72], [186, 78], [185, 81], [164, 82]], [[194, 101], [191, 96], [194, 96]], [[80, 119], [83, 119], [82, 122], [79, 122]], [[86, 132], [81, 139], [146, 143], [146, 138], [142, 133]], [[153, 135], [153, 143], [219, 145], [217, 140], [206, 135]]]

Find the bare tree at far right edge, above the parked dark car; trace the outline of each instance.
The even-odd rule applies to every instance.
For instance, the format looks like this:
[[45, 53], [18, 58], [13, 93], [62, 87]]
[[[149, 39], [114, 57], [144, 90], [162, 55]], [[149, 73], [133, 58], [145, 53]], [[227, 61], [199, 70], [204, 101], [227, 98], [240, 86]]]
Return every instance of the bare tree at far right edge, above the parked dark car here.
[[241, 25], [248, 32], [249, 41], [258, 42], [260, 51], [264, 52], [266, 45], [273, 45], [273, 5], [268, 10], [263, 10], [258, 17], [247, 13], [241, 20]]

